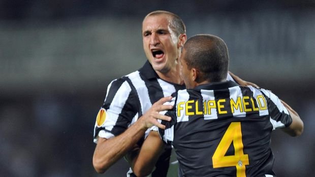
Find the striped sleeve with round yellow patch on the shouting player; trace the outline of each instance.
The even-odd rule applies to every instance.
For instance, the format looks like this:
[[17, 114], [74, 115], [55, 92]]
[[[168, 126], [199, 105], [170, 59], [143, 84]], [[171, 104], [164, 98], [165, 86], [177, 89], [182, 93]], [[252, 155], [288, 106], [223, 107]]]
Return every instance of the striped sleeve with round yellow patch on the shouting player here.
[[98, 137], [108, 139], [128, 128], [133, 118], [138, 115], [135, 96], [130, 84], [122, 78], [109, 84], [104, 104], [94, 125], [94, 143], [97, 143]]

